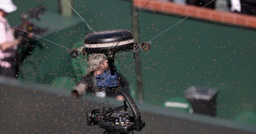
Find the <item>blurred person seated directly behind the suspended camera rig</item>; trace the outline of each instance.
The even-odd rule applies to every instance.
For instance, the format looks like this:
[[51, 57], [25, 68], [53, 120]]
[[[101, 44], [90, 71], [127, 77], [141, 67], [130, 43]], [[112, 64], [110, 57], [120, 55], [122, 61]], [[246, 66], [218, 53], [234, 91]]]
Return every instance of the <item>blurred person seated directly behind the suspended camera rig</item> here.
[[[97, 86], [96, 76], [102, 74], [106, 69], [108, 69], [108, 61], [105, 59], [104, 54], [91, 54], [88, 57], [88, 74], [73, 88], [72, 95], [80, 97], [90, 92], [98, 97], [111, 96], [116, 97], [117, 100], [124, 100], [124, 96], [120, 92]], [[120, 74], [118, 85], [128, 90], [128, 82]]]

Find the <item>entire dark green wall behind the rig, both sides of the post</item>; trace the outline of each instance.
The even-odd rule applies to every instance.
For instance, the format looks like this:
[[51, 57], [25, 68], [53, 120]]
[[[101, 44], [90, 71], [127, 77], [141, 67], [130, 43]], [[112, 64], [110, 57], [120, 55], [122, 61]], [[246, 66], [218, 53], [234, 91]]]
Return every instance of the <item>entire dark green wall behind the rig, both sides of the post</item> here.
[[[86, 34], [93, 32], [76, 13], [73, 13], [73, 17], [58, 14], [57, 0], [13, 1], [18, 11], [9, 16], [12, 24], [19, 22], [18, 16], [22, 11], [45, 4], [47, 12], [41, 21], [34, 20], [36, 24], [49, 29], [41, 36], [69, 49], [81, 43]], [[73, 7], [95, 31], [134, 30], [131, 26], [130, 0], [74, 0]], [[137, 13], [140, 42], [151, 40], [183, 19], [166, 13]], [[255, 29], [185, 19], [154, 38], [149, 51], [141, 51], [144, 102], [160, 107], [170, 97], [184, 98], [186, 88], [200, 86], [218, 89], [217, 117], [233, 120], [242, 111], [255, 112], [255, 36]], [[43, 84], [51, 84], [61, 77], [77, 81], [79, 77], [75, 74], [67, 50], [41, 38], [39, 42], [44, 43], [44, 48], [36, 47], [31, 57], [26, 59], [22, 66], [25, 68], [21, 69], [25, 78], [20, 79]], [[32, 62], [27, 62], [29, 60]], [[120, 55], [116, 62], [119, 71], [134, 87], [133, 54]], [[35, 66], [37, 71], [33, 70]]]

